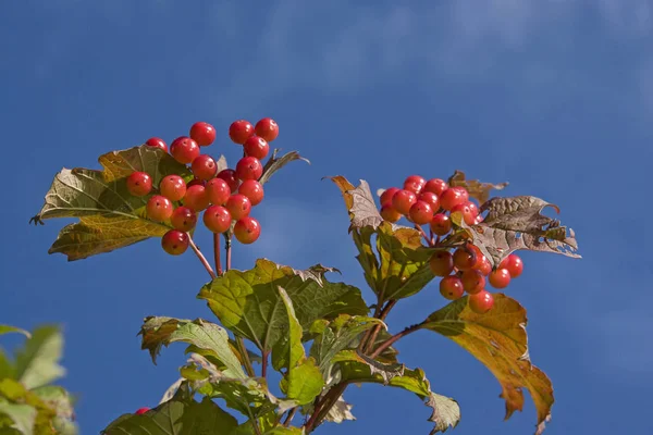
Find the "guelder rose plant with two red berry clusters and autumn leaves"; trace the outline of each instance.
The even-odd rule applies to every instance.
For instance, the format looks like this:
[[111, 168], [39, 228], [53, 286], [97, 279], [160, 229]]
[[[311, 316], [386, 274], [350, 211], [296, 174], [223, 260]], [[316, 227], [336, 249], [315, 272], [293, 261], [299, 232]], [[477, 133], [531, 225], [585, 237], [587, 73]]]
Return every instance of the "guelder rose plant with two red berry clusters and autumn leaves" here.
[[[410, 175], [379, 190], [379, 204], [365, 181], [354, 186], [330, 177], [344, 197], [375, 299], [368, 306], [360, 289], [330, 281], [336, 270], [321, 264], [297, 270], [259, 259], [250, 269], [232, 269], [235, 243], [252, 244], [264, 228], [255, 216], [266, 184], [288, 162], [306, 161], [296, 151], [269, 156], [278, 135], [269, 117], [234, 122], [229, 136], [242, 149], [229, 167], [223, 156], [205, 152], [215, 128], [198, 122], [170, 149], [151, 138], [101, 156], [102, 171], [64, 169], [54, 177], [34, 221], [78, 222], [61, 231], [50, 253], [73, 261], [159, 237], [170, 254], [190, 248], [210, 278], [197, 297], [218, 322], [145, 319], [141, 347], [152, 360], [162, 346], [181, 341], [187, 363], [157, 407], [121, 415], [104, 434], [310, 434], [354, 420], [346, 389], [366, 383], [416, 395], [430, 408], [431, 433], [444, 432], [458, 424], [458, 403], [431, 390], [427, 374], [405, 366], [393, 347], [417, 332], [442, 334], [481, 361], [501, 384], [506, 418], [522, 409], [528, 389], [541, 434], [554, 401], [551, 381], [530, 361], [526, 309], [491, 288], [521, 275], [518, 250], [579, 257], [574, 233], [541, 213], [557, 208], [529, 196], [490, 198], [506, 184], [469, 181], [459, 171], [446, 181]], [[204, 237], [201, 224], [212, 233], [211, 261], [195, 243]], [[433, 300], [427, 319], [389, 327], [390, 311], [436, 278], [449, 302], [438, 308]], [[272, 370], [279, 374], [270, 376]]]

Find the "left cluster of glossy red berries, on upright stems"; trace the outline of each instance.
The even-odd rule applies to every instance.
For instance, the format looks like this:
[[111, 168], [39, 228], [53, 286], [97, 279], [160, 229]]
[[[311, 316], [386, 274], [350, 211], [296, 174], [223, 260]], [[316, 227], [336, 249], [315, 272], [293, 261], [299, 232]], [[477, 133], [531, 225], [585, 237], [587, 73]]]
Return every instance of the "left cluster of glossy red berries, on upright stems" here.
[[[147, 217], [169, 223], [174, 229], [163, 235], [161, 245], [165, 252], [178, 256], [188, 249], [188, 232], [195, 228], [198, 213], [204, 211], [202, 222], [213, 233], [226, 233], [233, 225], [233, 234], [242, 244], [256, 241], [261, 233], [259, 222], [249, 215], [252, 207], [263, 200], [263, 187], [259, 179], [263, 173], [268, 145], [279, 136], [279, 125], [266, 117], [256, 126], [239, 120], [231, 124], [229, 136], [243, 146], [243, 158], [235, 169], [218, 172], [215, 160], [200, 153], [215, 140], [215, 128], [197, 122], [188, 136], [177, 137], [170, 145], [170, 153], [180, 163], [190, 165], [194, 179], [186, 183], [180, 175], [161, 179], [146, 206]], [[169, 152], [165, 141], [158, 137], [146, 145]], [[152, 177], [146, 172], [134, 172], [127, 177], [128, 191], [137, 197], [152, 192]]]

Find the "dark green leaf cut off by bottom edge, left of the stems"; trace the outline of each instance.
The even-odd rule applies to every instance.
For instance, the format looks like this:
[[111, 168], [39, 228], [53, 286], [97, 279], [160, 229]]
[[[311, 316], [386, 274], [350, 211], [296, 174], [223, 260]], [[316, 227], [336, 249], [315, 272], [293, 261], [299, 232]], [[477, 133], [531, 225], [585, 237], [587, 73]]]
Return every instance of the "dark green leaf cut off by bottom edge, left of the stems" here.
[[193, 400], [186, 387], [175, 396], [144, 414], [124, 414], [114, 420], [104, 435], [196, 435], [231, 434], [236, 430], [236, 419], [220, 409], [209, 398]]

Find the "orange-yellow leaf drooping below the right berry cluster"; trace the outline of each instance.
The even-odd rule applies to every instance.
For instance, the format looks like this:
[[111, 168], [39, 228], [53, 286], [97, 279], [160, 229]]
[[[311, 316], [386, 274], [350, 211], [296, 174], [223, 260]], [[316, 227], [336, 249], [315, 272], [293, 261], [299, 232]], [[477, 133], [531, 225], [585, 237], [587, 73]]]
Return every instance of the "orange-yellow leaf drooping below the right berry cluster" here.
[[494, 294], [494, 307], [485, 314], [471, 311], [465, 297], [435, 311], [423, 327], [457, 343], [494, 374], [506, 401], [506, 419], [521, 411], [521, 389], [527, 388], [538, 410], [539, 434], [551, 418], [553, 386], [530, 361], [526, 324], [526, 309], [519, 302]]

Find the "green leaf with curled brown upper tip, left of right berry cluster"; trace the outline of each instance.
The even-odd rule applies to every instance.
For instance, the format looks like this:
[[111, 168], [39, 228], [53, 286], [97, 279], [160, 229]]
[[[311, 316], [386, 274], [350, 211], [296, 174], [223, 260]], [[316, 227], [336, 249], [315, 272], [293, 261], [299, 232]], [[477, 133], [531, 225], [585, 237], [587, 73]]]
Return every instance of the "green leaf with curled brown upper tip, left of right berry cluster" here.
[[331, 179], [343, 192], [352, 221], [349, 231], [358, 248], [356, 259], [380, 303], [407, 298], [424, 288], [433, 279], [429, 269], [433, 250], [422, 245], [420, 233], [383, 221], [366, 181], [355, 188], [343, 176]]

